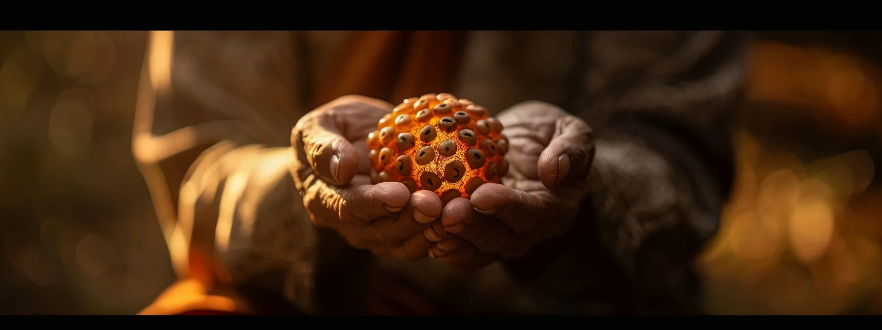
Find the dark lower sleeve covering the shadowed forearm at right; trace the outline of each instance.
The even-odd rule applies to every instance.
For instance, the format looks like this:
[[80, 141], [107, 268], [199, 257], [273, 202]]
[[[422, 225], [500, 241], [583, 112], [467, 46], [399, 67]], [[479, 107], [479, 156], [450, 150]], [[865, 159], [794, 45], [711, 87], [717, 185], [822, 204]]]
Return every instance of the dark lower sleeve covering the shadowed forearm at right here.
[[672, 136], [643, 132], [598, 140], [585, 214], [641, 307], [694, 312], [695, 257], [717, 230], [728, 173]]

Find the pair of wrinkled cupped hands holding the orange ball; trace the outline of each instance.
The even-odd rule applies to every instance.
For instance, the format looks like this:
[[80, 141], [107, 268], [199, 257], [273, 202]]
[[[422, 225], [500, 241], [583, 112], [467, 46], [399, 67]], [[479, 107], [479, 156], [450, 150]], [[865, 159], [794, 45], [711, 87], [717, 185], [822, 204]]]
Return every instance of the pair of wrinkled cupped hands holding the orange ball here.
[[457, 198], [442, 210], [429, 191], [409, 194], [398, 182], [370, 185], [365, 139], [392, 107], [346, 96], [297, 122], [295, 183], [313, 224], [375, 254], [429, 255], [458, 268], [522, 256], [570, 229], [594, 158], [584, 121], [543, 102], [512, 106], [497, 116], [510, 145], [505, 185], [485, 184], [471, 201]]

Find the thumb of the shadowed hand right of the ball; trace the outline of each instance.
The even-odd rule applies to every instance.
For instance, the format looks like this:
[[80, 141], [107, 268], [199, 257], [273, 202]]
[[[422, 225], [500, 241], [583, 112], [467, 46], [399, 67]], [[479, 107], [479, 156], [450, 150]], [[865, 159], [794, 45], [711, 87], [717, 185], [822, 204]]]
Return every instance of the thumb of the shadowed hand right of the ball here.
[[539, 179], [551, 190], [564, 180], [584, 180], [592, 161], [594, 134], [591, 128], [585, 121], [567, 115], [557, 121], [555, 136], [539, 156]]

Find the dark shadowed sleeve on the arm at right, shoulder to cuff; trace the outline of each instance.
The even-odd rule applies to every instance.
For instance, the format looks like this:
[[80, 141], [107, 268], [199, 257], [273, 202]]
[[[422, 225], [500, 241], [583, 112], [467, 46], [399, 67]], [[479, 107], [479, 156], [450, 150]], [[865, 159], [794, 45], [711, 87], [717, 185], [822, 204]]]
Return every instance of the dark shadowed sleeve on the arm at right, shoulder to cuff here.
[[[587, 216], [648, 310], [696, 304], [693, 263], [734, 180], [729, 123], [748, 33], [597, 33], [583, 116], [596, 135]], [[688, 302], [691, 300], [691, 302]]]

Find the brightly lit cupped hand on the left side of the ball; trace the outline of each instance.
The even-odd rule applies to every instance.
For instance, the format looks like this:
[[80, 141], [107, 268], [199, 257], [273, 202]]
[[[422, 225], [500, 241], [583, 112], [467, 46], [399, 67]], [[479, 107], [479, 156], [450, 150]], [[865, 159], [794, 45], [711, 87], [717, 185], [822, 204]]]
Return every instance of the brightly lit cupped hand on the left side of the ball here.
[[[427, 255], [422, 231], [441, 216], [441, 199], [399, 182], [370, 184], [367, 136], [392, 105], [344, 96], [303, 116], [291, 131], [294, 178], [312, 223], [349, 245], [404, 260]], [[437, 222], [436, 222], [437, 223]]]

